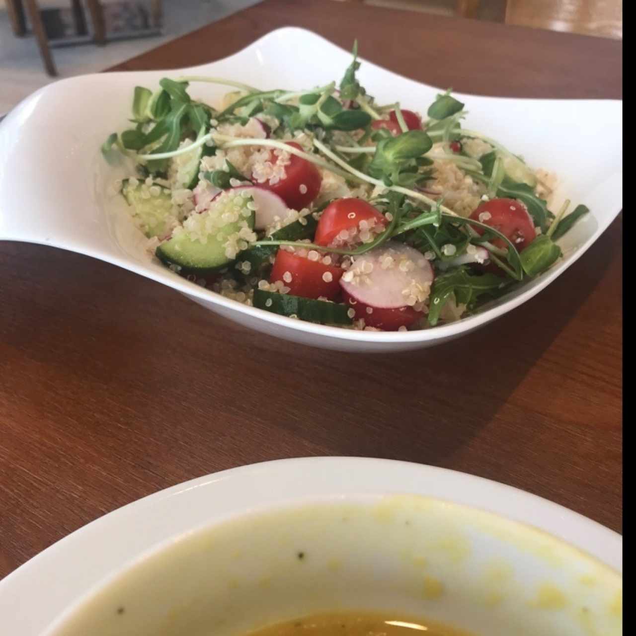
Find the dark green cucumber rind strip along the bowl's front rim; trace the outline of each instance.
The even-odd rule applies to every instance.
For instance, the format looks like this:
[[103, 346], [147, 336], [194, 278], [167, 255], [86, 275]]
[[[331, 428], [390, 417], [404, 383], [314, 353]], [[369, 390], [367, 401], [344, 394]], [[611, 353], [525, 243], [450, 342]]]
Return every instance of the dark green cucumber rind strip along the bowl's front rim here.
[[353, 324], [347, 312], [349, 307], [338, 303], [329, 303], [324, 300], [302, 298], [279, 294], [263, 289], [254, 290], [254, 307], [264, 309], [266, 312], [282, 316], [296, 316], [307, 322], [320, 322], [321, 324]]

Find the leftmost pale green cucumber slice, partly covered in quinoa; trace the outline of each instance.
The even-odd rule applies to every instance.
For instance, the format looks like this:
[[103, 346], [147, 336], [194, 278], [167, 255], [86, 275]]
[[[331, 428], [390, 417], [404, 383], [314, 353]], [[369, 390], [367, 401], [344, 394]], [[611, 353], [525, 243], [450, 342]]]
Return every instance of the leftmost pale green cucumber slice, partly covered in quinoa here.
[[134, 188], [130, 186], [128, 179], [123, 181], [121, 194], [128, 205], [132, 207], [130, 212], [139, 229], [149, 238], [165, 237], [176, 225], [178, 219], [177, 208], [172, 204], [172, 196], [168, 188], [161, 188], [158, 195], [144, 197], [149, 194], [148, 186], [140, 183]]

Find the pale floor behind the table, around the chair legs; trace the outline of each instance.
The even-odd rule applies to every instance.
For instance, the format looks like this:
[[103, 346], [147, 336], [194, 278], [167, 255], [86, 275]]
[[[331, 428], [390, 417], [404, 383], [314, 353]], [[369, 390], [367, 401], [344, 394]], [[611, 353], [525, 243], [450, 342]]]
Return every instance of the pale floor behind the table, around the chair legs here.
[[[92, 44], [53, 49], [59, 78], [96, 73], [155, 48], [184, 33], [220, 20], [258, 0], [168, 0], [164, 6], [165, 35], [154, 38]], [[64, 0], [39, 0], [40, 6], [64, 6]], [[0, 114], [10, 110], [34, 90], [55, 79], [46, 75], [34, 38], [16, 38], [0, 1]]]

